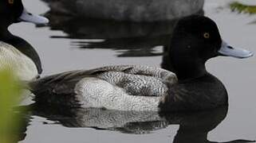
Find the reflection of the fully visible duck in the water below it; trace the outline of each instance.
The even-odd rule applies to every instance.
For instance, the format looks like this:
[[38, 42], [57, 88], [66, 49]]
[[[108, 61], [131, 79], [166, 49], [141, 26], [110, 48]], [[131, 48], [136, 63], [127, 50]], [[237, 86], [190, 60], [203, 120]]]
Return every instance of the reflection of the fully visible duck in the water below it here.
[[[120, 111], [97, 108], [59, 108], [32, 105], [33, 115], [47, 118], [69, 128], [104, 129], [120, 133], [152, 133], [170, 125], [179, 125], [173, 143], [215, 143], [208, 141], [207, 134], [226, 118], [227, 106], [215, 110], [193, 113], [158, 113], [152, 111]], [[219, 142], [219, 141], [218, 141]], [[254, 142], [248, 140], [226, 143]]]

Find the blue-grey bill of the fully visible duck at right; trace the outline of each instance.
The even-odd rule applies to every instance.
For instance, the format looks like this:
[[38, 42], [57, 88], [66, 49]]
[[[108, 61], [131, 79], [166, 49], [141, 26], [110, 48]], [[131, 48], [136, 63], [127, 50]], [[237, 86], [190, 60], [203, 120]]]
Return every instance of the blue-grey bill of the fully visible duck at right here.
[[223, 41], [222, 47], [219, 49], [219, 53], [223, 56], [233, 56], [236, 58], [248, 58], [254, 56], [254, 52], [250, 52], [242, 48], [233, 48]]

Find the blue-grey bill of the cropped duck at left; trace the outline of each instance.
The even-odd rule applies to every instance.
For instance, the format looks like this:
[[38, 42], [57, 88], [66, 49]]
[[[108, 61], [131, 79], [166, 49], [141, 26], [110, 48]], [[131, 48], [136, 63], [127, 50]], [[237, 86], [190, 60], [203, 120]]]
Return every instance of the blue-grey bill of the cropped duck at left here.
[[19, 17], [18, 20], [31, 22], [34, 24], [47, 24], [49, 22], [49, 20], [46, 17], [41, 17], [39, 15], [31, 14], [25, 8], [22, 12], [21, 17]]

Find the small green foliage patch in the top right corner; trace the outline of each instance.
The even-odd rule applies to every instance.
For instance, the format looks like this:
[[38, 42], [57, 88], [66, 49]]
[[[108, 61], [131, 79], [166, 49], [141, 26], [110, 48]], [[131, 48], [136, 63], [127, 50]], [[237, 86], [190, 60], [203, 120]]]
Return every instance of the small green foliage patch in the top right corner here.
[[240, 2], [230, 3], [230, 9], [239, 13], [256, 14], [256, 6], [247, 6]]

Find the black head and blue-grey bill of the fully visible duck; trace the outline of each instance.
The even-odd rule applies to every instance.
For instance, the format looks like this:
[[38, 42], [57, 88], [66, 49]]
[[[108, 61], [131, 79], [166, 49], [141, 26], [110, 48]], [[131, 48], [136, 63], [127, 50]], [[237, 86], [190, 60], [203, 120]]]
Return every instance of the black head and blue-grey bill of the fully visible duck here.
[[206, 74], [205, 63], [215, 56], [245, 58], [252, 52], [228, 46], [209, 17], [191, 15], [181, 18], [174, 29], [169, 49], [173, 72], [178, 79]]

